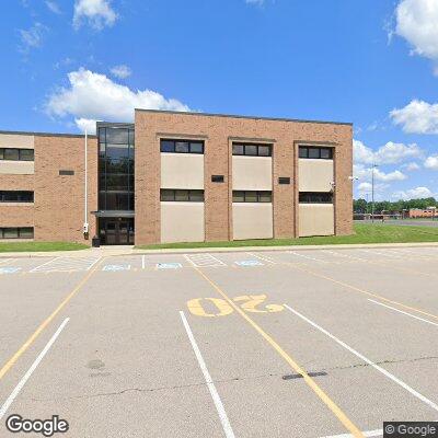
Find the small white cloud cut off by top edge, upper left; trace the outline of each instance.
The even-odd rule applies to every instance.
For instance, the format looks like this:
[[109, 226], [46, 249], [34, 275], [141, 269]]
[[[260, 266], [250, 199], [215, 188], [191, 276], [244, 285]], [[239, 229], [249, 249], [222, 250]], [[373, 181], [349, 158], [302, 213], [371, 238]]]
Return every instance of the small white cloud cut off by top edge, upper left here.
[[117, 20], [116, 12], [112, 9], [110, 0], [76, 0], [73, 27], [79, 28], [83, 22], [100, 31], [112, 26]]

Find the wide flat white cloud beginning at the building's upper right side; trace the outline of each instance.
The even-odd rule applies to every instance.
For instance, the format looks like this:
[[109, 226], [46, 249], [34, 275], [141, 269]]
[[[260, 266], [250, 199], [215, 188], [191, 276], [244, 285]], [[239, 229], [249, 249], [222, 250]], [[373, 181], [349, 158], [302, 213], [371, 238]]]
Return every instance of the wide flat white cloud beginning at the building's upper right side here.
[[415, 145], [394, 143], [388, 141], [387, 145], [373, 151], [359, 140], [353, 140], [355, 163], [366, 164], [396, 164], [410, 158], [422, 157], [423, 151]]

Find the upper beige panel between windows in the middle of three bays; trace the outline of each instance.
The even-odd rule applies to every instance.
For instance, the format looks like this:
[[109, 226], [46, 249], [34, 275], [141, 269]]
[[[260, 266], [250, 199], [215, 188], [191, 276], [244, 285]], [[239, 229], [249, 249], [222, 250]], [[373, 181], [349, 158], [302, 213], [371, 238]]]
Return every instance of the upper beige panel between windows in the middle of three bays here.
[[273, 159], [233, 155], [232, 178], [233, 191], [272, 191]]

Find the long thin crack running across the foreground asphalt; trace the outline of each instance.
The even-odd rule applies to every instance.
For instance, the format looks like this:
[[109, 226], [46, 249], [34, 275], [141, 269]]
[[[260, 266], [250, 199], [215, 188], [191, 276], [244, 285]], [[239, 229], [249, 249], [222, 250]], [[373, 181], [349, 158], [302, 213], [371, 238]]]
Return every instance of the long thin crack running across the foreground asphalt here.
[[[374, 362], [376, 365], [389, 365], [389, 364], [403, 364], [403, 362], [416, 362], [420, 360], [437, 360], [438, 356], [424, 356], [424, 357], [415, 357], [412, 359], [385, 359], [385, 360], [380, 360]], [[336, 370], [347, 370], [347, 369], [356, 369], [356, 368], [365, 368], [365, 367], [370, 367], [369, 364], [366, 362], [360, 362], [360, 364], [353, 364], [349, 366], [338, 366], [338, 367], [332, 367], [332, 368], [321, 368], [320, 371], [336, 371]], [[311, 371], [308, 371], [311, 372]], [[246, 380], [256, 380], [256, 379], [264, 379], [267, 377], [280, 377], [283, 378], [285, 374], [283, 373], [267, 373], [267, 374], [261, 374], [261, 376], [253, 376], [253, 377], [234, 377], [231, 379], [221, 379], [221, 380], [215, 380], [215, 383], [229, 383], [233, 381], [246, 381]], [[300, 380], [297, 380], [298, 382]], [[102, 396], [114, 396], [114, 395], [123, 395], [128, 392], [154, 392], [154, 391], [166, 391], [166, 390], [177, 390], [177, 389], [185, 389], [185, 388], [196, 388], [196, 387], [204, 387], [206, 385], [206, 382], [198, 382], [198, 383], [188, 383], [188, 384], [175, 384], [175, 385], [168, 385], [168, 387], [157, 387], [157, 388], [126, 388], [120, 391], [113, 391], [113, 392], [100, 392], [95, 394], [83, 394], [83, 395], [71, 395], [67, 397], [60, 397], [60, 399], [30, 399], [33, 402], [47, 402], [47, 401], [61, 401], [61, 400], [81, 400], [81, 399], [95, 399], [95, 397], [102, 397]]]

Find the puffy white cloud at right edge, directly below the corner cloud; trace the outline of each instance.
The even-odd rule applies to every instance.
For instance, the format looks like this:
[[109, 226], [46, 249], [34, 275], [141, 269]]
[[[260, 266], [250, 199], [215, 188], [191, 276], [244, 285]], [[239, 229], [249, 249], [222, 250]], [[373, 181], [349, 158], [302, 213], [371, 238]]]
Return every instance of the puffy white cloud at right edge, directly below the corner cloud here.
[[390, 117], [405, 132], [438, 134], [438, 104], [414, 100], [403, 108], [391, 111]]

